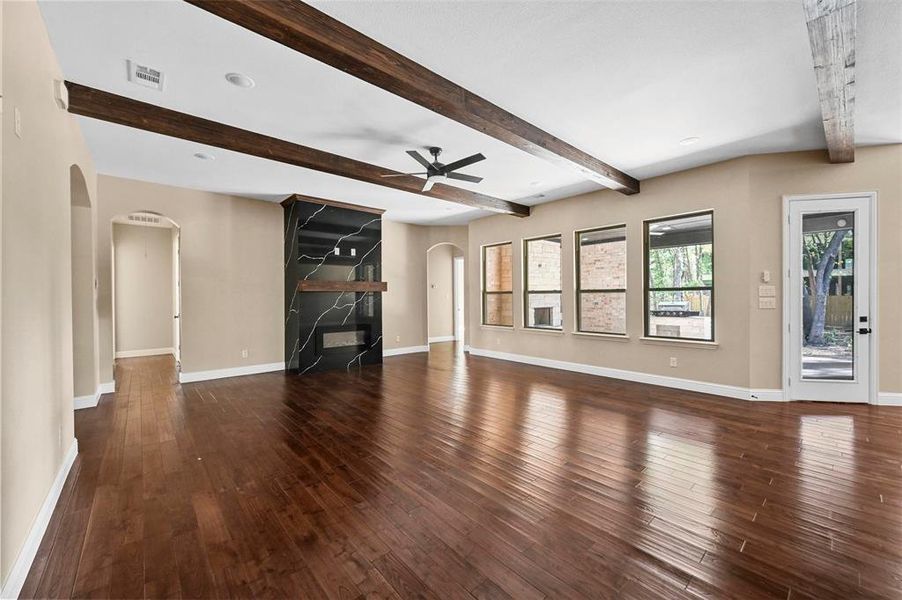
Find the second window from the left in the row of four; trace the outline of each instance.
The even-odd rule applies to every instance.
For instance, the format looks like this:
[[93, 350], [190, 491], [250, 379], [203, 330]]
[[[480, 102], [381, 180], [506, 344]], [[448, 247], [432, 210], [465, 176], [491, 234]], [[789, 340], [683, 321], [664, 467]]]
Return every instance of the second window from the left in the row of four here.
[[523, 241], [523, 323], [561, 329], [561, 236]]

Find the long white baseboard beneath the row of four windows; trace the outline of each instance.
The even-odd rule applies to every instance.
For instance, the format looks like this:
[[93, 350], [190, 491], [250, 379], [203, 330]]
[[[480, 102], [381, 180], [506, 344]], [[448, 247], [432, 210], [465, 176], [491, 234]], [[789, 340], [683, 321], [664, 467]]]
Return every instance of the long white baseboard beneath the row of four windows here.
[[609, 367], [598, 367], [595, 365], [573, 363], [550, 358], [539, 358], [537, 356], [526, 356], [524, 354], [484, 350], [472, 346], [470, 347], [470, 354], [472, 356], [496, 358], [498, 360], [518, 362], [536, 367], [547, 367], [549, 369], [560, 369], [562, 371], [573, 371], [576, 373], [585, 373], [587, 375], [598, 375], [600, 377], [610, 377], [612, 379], [622, 379], [624, 381], [646, 383], [648, 385], [660, 385], [663, 387], [699, 392], [702, 394], [726, 396], [727, 398], [736, 398], [738, 400], [783, 401], [783, 390], [749, 389], [722, 383], [709, 383], [707, 381], [696, 381], [694, 379], [680, 379], [678, 377], [654, 375], [652, 373], [641, 373], [639, 371], [625, 371], [622, 369], [611, 369]]

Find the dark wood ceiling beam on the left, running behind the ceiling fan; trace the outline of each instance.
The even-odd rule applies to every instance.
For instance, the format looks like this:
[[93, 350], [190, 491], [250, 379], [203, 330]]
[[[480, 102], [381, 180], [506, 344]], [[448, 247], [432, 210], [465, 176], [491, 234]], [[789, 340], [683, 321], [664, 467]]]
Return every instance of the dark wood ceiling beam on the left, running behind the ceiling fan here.
[[180, 138], [207, 146], [215, 146], [233, 152], [249, 154], [322, 173], [338, 175], [383, 187], [402, 190], [411, 194], [429, 196], [518, 217], [528, 217], [529, 207], [485, 194], [450, 185], [436, 184], [428, 192], [423, 191], [419, 177], [388, 177], [399, 175], [397, 171], [346, 158], [316, 148], [301, 146], [253, 131], [239, 129], [194, 115], [162, 108], [146, 102], [117, 96], [109, 92], [66, 82], [69, 90], [69, 112], [109, 123], [143, 129], [170, 137]]

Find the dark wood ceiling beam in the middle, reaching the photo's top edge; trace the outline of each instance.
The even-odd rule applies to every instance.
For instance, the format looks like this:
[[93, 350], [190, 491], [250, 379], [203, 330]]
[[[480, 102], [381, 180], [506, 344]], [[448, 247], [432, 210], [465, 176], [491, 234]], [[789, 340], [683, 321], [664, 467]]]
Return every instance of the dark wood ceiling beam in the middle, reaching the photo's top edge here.
[[296, 0], [186, 0], [207, 12], [624, 194], [639, 181]]

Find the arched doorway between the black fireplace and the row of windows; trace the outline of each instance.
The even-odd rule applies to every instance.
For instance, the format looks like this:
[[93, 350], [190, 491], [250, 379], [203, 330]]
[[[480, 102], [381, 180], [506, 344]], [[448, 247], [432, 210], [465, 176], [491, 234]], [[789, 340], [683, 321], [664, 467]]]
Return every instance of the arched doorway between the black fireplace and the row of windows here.
[[426, 330], [432, 344], [455, 343], [463, 349], [465, 336], [464, 252], [450, 242], [426, 251]]

